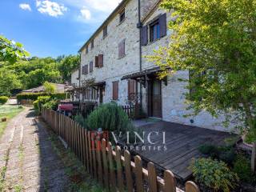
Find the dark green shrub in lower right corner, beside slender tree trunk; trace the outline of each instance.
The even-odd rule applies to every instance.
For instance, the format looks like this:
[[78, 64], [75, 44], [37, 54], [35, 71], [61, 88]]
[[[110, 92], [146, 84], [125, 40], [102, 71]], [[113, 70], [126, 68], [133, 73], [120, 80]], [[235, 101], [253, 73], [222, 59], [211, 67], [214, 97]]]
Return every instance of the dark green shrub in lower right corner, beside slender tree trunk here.
[[238, 154], [234, 162], [233, 171], [238, 174], [242, 182], [256, 183], [256, 175], [250, 169], [250, 160], [244, 155]]

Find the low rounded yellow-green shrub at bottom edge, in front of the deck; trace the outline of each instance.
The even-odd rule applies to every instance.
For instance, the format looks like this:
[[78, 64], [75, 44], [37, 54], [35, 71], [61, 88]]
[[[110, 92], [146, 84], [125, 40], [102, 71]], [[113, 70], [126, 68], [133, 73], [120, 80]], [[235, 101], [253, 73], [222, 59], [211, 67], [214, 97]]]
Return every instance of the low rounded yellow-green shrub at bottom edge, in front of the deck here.
[[237, 174], [230, 171], [225, 162], [211, 158], [198, 158], [190, 166], [196, 182], [214, 191], [229, 192], [238, 182]]

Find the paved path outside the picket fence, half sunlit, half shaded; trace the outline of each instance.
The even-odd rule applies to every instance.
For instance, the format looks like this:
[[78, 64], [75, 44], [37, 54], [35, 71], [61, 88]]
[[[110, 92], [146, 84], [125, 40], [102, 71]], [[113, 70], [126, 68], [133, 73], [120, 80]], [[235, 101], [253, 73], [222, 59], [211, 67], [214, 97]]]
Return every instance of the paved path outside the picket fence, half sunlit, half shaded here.
[[0, 191], [65, 191], [68, 185], [46, 127], [35, 118], [26, 107], [0, 138]]

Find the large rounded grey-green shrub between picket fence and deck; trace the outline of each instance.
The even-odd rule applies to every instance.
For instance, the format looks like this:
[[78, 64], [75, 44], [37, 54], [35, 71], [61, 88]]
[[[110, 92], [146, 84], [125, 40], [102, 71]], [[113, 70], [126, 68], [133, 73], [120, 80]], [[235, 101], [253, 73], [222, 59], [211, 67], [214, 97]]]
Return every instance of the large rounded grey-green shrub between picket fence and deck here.
[[98, 106], [86, 119], [86, 125], [91, 130], [126, 131], [133, 130], [128, 115], [115, 102]]

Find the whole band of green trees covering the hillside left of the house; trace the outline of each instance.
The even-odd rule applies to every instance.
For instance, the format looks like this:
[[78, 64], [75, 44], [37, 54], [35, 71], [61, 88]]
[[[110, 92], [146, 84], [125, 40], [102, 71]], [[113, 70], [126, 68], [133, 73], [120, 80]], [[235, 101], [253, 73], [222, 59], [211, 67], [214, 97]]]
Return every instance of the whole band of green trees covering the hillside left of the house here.
[[62, 55], [56, 59], [28, 56], [22, 44], [0, 36], [0, 96], [42, 86], [44, 82], [69, 82], [72, 70], [80, 62], [78, 55]]

